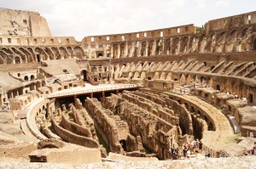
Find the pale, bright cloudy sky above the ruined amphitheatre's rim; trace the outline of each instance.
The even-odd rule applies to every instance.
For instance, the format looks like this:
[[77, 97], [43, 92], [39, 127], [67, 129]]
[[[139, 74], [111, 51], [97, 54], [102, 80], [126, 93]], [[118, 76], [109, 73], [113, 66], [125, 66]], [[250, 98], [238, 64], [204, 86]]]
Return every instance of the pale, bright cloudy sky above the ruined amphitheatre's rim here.
[[54, 37], [148, 31], [256, 10], [256, 0], [0, 0], [0, 8], [35, 11]]

